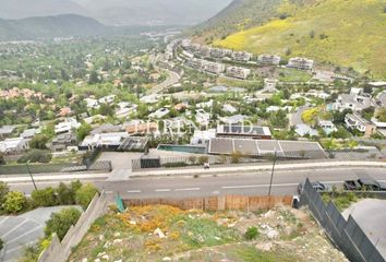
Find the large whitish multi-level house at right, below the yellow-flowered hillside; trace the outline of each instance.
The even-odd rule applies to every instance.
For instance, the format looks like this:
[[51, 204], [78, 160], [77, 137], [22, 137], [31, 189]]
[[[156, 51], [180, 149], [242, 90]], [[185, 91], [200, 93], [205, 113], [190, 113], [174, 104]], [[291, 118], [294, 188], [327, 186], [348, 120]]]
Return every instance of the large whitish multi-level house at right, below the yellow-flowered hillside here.
[[351, 88], [350, 94], [341, 94], [333, 104], [333, 109], [342, 111], [351, 109], [353, 111], [362, 111], [373, 106], [372, 98], [369, 94], [363, 93], [362, 88]]

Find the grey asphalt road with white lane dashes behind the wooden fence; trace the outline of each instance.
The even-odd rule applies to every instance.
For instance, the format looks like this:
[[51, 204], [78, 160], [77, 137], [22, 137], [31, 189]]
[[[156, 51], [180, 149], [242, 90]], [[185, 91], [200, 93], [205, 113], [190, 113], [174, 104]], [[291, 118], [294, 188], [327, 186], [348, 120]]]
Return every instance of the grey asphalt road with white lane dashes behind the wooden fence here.
[[[327, 184], [341, 184], [347, 179], [358, 179], [358, 176], [369, 175], [374, 179], [386, 181], [384, 168], [330, 168], [313, 170], [278, 170], [273, 181], [273, 194], [294, 194], [299, 182], [306, 177], [312, 181]], [[123, 198], [195, 198], [224, 194], [264, 195], [268, 192], [269, 171], [258, 171], [254, 175], [226, 175], [205, 177], [173, 178], [134, 178], [128, 181], [93, 180], [98, 188], [108, 194], [120, 193]], [[55, 187], [58, 181], [38, 182], [38, 188]], [[31, 182], [10, 183], [13, 190], [29, 194], [33, 191]]]

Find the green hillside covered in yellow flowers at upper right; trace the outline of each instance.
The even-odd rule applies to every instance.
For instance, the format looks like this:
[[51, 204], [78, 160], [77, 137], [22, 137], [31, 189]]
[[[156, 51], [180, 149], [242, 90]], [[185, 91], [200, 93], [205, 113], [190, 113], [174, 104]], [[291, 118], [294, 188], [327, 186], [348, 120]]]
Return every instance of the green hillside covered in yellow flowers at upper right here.
[[255, 53], [305, 56], [361, 72], [371, 70], [386, 79], [384, 0], [304, 2], [280, 3], [275, 9], [281, 19], [274, 14], [264, 25], [241, 28], [225, 39], [217, 37], [214, 45]]

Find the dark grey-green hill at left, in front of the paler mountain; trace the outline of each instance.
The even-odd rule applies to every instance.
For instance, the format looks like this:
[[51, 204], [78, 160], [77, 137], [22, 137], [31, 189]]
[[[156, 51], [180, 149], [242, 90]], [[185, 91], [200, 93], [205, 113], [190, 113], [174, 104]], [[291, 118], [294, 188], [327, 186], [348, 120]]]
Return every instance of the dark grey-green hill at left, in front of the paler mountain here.
[[96, 36], [110, 32], [109, 27], [96, 20], [76, 14], [0, 20], [0, 40]]

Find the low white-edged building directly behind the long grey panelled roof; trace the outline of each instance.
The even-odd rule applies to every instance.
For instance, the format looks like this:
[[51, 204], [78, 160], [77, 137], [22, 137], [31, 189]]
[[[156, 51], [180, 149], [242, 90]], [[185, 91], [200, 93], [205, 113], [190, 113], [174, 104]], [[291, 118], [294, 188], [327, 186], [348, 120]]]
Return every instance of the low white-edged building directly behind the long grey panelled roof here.
[[270, 140], [272, 133], [268, 127], [220, 124], [217, 127], [216, 138]]

